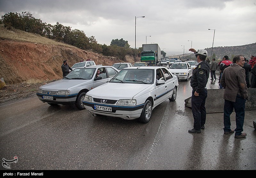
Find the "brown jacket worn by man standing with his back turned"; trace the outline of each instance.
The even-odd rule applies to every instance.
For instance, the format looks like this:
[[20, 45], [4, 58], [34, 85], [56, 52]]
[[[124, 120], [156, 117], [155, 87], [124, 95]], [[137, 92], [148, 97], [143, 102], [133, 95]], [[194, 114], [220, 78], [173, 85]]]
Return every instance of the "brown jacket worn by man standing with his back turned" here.
[[223, 98], [228, 101], [235, 102], [237, 94], [244, 99], [248, 97], [245, 70], [237, 64], [224, 69], [220, 84], [225, 89]]

